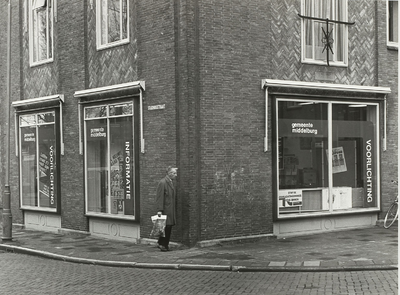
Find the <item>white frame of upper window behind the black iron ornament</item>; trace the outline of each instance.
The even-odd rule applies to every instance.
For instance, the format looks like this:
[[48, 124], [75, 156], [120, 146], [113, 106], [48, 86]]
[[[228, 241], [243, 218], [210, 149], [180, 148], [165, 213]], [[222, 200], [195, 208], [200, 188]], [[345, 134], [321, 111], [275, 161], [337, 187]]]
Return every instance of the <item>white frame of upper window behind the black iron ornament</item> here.
[[[314, 12], [312, 12], [312, 15], [307, 15], [306, 14], [306, 11], [305, 11], [306, 3], [305, 3], [305, 1], [306, 0], [302, 0], [301, 1], [301, 15], [320, 17], [320, 16], [315, 16]], [[315, 0], [309, 0], [309, 1], [312, 1], [312, 7], [314, 7], [315, 6], [315, 4], [314, 4]], [[343, 8], [342, 8], [343, 9], [343, 11], [342, 11], [343, 19], [341, 21], [347, 22], [348, 21], [348, 2], [347, 2], [347, 0], [333, 0], [333, 1], [340, 1], [340, 3], [342, 3], [342, 5], [343, 5]], [[336, 12], [335, 12], [335, 14], [336, 14]], [[335, 20], [337, 20], [337, 19], [335, 19]], [[312, 47], [313, 47], [313, 58], [306, 58], [305, 21], [311, 21], [313, 24], [315, 22], [321, 22], [321, 21], [317, 21], [317, 20], [306, 20], [304, 18], [301, 19], [301, 61], [302, 61], [302, 63], [326, 65], [327, 64], [326, 60], [317, 60], [317, 59], [315, 59], [315, 57], [314, 57], [315, 44], [312, 45]], [[333, 25], [333, 26], [336, 27], [339, 24], [330, 23], [330, 25]], [[314, 28], [314, 25], [312, 25], [312, 28]], [[314, 33], [315, 32], [314, 32], [314, 29], [313, 29], [312, 34], [314, 35]], [[333, 31], [333, 34], [334, 34], [333, 39], [337, 40], [338, 39], [337, 38], [337, 34], [338, 33], [336, 33], [335, 29]], [[313, 36], [313, 39], [314, 39], [314, 36]], [[330, 54], [330, 56], [333, 57], [333, 60], [329, 61], [329, 65], [330, 66], [347, 67], [347, 65], [348, 65], [348, 25], [343, 25], [343, 45], [342, 46], [343, 46], [343, 61], [337, 61], [336, 60], [337, 42], [333, 43], [333, 48], [332, 49], [333, 49], [334, 54], [333, 55]], [[325, 51], [324, 51], [324, 54], [325, 54]]]

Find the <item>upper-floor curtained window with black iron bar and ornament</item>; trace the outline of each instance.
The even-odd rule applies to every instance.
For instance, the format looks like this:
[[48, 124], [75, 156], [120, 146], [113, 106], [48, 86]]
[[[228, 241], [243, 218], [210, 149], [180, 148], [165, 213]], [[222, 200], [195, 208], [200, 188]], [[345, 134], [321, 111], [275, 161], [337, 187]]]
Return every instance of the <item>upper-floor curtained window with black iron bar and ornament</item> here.
[[347, 22], [347, 0], [302, 0], [302, 15], [321, 19], [302, 18], [302, 62], [346, 65], [347, 25], [325, 20]]

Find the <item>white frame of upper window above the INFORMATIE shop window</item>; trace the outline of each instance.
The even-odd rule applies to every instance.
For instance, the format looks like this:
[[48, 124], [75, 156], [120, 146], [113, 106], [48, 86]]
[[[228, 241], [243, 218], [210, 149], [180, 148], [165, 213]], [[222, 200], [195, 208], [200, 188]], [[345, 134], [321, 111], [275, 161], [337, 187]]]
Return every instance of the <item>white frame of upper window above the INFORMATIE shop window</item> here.
[[[119, 7], [120, 7], [120, 11], [122, 11], [122, 7], [123, 7], [123, 2], [126, 1], [126, 10], [127, 10], [127, 23], [126, 23], [126, 34], [127, 37], [122, 39], [122, 33], [123, 33], [123, 28], [122, 28], [122, 23], [123, 23], [123, 17], [122, 17], [122, 13], [120, 13], [120, 18], [119, 18], [119, 24], [120, 24], [120, 40], [114, 41], [114, 42], [108, 42], [108, 40], [102, 44], [102, 23], [101, 23], [101, 15], [102, 15], [102, 11], [104, 11], [105, 13], [107, 13], [107, 9], [103, 8], [103, 4], [106, 5], [106, 7], [108, 7], [108, 2], [111, 0], [96, 0], [96, 44], [97, 44], [97, 50], [101, 50], [101, 49], [106, 49], [106, 48], [110, 48], [110, 47], [114, 47], [114, 46], [118, 46], [118, 45], [122, 45], [122, 44], [127, 44], [130, 42], [129, 39], [129, 35], [130, 35], [130, 24], [129, 24], [129, 0], [119, 0]], [[105, 24], [106, 25], [106, 31], [108, 31], [108, 22]], [[108, 39], [108, 33], [105, 34], [106, 38]]]

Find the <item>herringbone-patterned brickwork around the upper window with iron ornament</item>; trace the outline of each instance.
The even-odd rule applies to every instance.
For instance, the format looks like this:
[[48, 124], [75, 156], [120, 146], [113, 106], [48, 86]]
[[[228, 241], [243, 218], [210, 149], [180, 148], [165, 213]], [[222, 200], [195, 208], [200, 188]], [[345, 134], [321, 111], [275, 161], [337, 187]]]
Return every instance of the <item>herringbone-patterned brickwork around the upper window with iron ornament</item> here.
[[301, 1], [271, 1], [271, 63], [277, 69], [271, 79], [318, 81], [328, 73], [329, 80], [322, 82], [375, 85], [375, 14], [374, 2], [356, 0], [348, 2], [348, 67], [326, 67], [301, 63]]

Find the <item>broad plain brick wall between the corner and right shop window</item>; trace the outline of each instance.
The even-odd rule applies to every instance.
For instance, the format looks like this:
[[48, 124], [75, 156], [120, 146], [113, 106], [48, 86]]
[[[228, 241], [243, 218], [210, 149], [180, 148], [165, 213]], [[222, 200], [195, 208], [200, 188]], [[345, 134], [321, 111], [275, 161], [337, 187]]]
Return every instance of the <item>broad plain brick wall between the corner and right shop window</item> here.
[[202, 1], [200, 240], [272, 232], [272, 158], [264, 153], [270, 5]]

